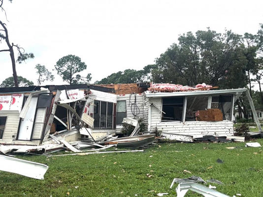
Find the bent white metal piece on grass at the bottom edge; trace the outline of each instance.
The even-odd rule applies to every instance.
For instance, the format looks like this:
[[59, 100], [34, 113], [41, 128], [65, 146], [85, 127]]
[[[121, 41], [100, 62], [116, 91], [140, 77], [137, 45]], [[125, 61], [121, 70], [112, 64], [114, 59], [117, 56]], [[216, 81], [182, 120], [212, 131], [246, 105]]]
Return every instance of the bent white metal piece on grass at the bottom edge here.
[[216, 190], [209, 189], [208, 187], [193, 182], [180, 183], [176, 188], [177, 197], [184, 197], [188, 190], [192, 190], [193, 192], [201, 194], [204, 197], [230, 197]]

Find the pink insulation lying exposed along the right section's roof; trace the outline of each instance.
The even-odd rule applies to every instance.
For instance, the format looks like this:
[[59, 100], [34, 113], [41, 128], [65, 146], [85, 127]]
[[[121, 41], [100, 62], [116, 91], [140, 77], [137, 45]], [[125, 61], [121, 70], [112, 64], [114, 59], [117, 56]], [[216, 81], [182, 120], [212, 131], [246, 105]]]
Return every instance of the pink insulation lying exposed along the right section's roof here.
[[176, 91], [192, 91], [192, 90], [209, 90], [212, 85], [207, 85], [205, 83], [197, 84], [196, 86], [188, 86], [181, 84], [151, 84], [149, 91], [158, 92], [176, 92]]

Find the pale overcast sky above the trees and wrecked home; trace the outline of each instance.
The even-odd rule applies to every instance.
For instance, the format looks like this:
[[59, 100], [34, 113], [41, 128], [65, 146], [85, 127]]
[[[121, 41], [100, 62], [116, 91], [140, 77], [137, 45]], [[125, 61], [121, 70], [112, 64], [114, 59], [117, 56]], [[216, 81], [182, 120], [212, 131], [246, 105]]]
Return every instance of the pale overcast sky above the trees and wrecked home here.
[[[35, 56], [17, 64], [17, 74], [35, 84], [37, 63], [52, 71], [69, 54], [87, 64], [81, 74], [91, 73], [94, 83], [153, 64], [179, 34], [207, 27], [256, 33], [263, 23], [263, 0], [4, 0], [4, 8], [10, 41]], [[1, 83], [12, 76], [8, 52], [0, 53], [0, 69]], [[55, 75], [45, 84], [66, 82]]]

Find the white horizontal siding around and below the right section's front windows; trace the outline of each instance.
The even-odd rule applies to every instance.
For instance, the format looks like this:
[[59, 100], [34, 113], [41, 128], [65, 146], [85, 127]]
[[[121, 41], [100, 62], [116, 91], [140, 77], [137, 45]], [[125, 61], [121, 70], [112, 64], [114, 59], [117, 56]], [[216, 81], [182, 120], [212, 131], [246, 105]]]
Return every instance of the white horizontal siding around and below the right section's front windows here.
[[[162, 98], [151, 98], [151, 103], [162, 109]], [[199, 138], [204, 135], [226, 136], [233, 135], [233, 122], [224, 121], [188, 121], [188, 122], [161, 122], [161, 112], [152, 106], [151, 130], [155, 127], [159, 131], [174, 134], [191, 135]]]

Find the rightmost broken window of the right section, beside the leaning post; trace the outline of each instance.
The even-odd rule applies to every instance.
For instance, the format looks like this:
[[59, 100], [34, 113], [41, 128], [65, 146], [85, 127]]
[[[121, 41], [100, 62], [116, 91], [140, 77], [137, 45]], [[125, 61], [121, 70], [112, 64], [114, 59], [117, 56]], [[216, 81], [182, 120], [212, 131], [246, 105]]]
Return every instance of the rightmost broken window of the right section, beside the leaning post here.
[[220, 109], [224, 120], [231, 120], [232, 95], [212, 96], [211, 109]]

